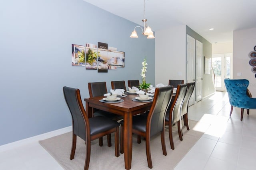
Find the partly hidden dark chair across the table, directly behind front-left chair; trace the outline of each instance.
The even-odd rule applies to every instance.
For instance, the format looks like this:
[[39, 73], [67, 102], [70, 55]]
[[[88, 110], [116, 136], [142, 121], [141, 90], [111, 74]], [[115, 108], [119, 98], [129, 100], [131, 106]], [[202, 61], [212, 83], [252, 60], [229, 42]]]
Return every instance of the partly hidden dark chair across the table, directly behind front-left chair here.
[[[106, 82], [89, 82], [88, 83], [88, 89], [89, 89], [89, 95], [91, 97], [96, 97], [96, 96], [103, 96], [104, 94], [108, 93], [107, 91], [107, 86]], [[114, 113], [110, 113], [108, 111], [103, 111], [99, 109], [92, 109], [93, 116], [102, 116], [102, 117], [107, 117], [109, 119], [118, 121], [120, 119], [123, 119], [123, 116], [116, 115]], [[103, 139], [99, 138], [99, 143], [102, 146], [103, 145]], [[111, 135], [108, 135], [108, 147], [111, 147]]]

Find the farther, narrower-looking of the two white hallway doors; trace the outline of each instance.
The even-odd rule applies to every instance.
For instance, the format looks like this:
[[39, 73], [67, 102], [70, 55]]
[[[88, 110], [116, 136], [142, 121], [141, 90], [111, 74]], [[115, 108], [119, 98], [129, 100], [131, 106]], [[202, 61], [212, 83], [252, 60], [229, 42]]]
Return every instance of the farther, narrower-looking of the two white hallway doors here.
[[196, 40], [196, 102], [202, 100], [203, 44]]

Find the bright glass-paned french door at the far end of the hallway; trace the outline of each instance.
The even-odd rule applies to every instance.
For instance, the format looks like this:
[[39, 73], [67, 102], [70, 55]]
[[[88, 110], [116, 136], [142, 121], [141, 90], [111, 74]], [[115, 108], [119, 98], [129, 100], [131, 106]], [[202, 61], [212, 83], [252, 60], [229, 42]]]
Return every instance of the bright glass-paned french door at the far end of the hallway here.
[[214, 72], [214, 86], [216, 91], [225, 91], [225, 78], [232, 78], [232, 53], [212, 55], [212, 68]]

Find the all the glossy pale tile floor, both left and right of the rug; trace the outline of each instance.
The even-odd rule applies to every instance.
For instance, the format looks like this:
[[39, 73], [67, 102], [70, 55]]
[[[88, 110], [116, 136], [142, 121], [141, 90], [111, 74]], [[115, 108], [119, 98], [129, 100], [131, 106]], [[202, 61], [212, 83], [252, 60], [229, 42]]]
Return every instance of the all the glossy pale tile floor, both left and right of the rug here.
[[[230, 104], [224, 92], [216, 92], [188, 109], [189, 119], [210, 127], [175, 170], [255, 170], [256, 110], [245, 112], [240, 121], [240, 109]], [[195, 127], [200, 131], [200, 127]], [[44, 150], [38, 140], [66, 133], [71, 128], [54, 131], [30, 139], [0, 146], [0, 170], [63, 170]]]

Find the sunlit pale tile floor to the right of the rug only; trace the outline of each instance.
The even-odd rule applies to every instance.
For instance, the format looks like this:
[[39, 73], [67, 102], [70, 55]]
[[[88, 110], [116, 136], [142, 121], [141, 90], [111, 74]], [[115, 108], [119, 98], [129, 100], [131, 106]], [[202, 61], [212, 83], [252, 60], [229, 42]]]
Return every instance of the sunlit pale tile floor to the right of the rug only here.
[[224, 92], [189, 107], [189, 119], [210, 127], [174, 170], [255, 170], [256, 110], [244, 113], [230, 104]]

